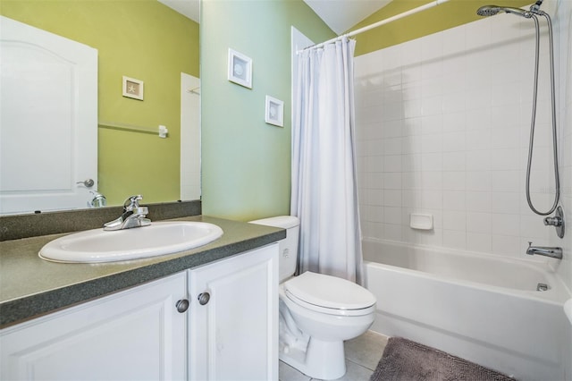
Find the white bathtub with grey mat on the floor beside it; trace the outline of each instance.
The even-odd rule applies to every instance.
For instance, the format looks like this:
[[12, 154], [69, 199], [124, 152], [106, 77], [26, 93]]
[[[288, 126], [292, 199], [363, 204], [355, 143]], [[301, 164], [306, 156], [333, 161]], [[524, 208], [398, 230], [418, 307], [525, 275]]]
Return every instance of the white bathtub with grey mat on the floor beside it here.
[[363, 249], [377, 297], [372, 330], [519, 380], [572, 380], [570, 296], [545, 263], [373, 240]]

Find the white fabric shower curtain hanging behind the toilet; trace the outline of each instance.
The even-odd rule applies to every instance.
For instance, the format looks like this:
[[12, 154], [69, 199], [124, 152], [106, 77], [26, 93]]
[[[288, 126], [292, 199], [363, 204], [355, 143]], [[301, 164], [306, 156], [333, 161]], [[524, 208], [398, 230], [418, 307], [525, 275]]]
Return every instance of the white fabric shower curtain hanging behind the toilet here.
[[363, 284], [354, 132], [355, 45], [355, 40], [343, 38], [299, 54], [291, 213], [300, 219], [300, 273], [313, 271]]

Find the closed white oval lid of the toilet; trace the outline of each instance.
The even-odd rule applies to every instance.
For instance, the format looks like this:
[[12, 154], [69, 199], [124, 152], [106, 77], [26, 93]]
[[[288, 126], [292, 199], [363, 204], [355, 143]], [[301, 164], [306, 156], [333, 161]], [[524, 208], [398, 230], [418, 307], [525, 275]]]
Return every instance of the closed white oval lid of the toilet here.
[[359, 284], [309, 271], [285, 282], [284, 288], [299, 301], [326, 309], [368, 309], [376, 301], [374, 294]]

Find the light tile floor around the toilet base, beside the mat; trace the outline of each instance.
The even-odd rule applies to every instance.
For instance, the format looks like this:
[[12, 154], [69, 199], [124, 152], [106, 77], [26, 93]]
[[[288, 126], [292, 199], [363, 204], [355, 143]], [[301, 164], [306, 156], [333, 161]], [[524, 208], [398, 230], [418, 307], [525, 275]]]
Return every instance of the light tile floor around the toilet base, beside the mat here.
[[[377, 363], [382, 358], [383, 349], [389, 337], [367, 331], [365, 334], [344, 343], [346, 350], [346, 368], [348, 369], [343, 381], [367, 381], [374, 373]], [[295, 368], [280, 361], [280, 381], [309, 381], [315, 380], [300, 373]]]

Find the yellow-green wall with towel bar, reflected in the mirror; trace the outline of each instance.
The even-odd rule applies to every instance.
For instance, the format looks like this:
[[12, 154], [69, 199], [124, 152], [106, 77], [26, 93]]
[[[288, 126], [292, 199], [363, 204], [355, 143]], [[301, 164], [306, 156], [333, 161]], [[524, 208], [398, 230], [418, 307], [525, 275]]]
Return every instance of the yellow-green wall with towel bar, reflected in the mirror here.
[[[98, 189], [109, 205], [180, 198], [181, 72], [199, 77], [198, 23], [156, 0], [0, 0], [0, 14], [98, 50], [99, 121], [169, 129], [98, 129]], [[122, 97], [122, 76], [143, 80], [143, 101]]]

